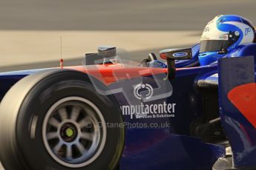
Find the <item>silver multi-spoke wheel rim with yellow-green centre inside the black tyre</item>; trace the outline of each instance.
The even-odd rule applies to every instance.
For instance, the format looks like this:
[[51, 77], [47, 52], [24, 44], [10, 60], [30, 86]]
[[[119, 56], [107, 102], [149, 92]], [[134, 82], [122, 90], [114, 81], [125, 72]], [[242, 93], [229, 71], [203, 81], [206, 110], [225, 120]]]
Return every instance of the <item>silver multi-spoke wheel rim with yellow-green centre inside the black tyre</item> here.
[[87, 166], [99, 157], [105, 146], [105, 120], [91, 101], [63, 98], [46, 113], [42, 138], [56, 162], [70, 168]]

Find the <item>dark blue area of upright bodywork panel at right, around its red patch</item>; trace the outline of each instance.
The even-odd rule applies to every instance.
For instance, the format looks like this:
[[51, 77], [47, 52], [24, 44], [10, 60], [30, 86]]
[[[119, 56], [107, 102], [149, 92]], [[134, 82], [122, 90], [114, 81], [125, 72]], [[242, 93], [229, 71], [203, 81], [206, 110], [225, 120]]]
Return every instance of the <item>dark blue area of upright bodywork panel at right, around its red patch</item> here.
[[[220, 68], [220, 118], [234, 154], [234, 165], [237, 167], [256, 167], [256, 129], [243, 113], [227, 97], [237, 86], [255, 84], [255, 58], [244, 57], [236, 60], [219, 61]], [[238, 67], [234, 67], [238, 66]], [[234, 72], [234, 74], [230, 74]], [[252, 96], [255, 89], [252, 89]], [[249, 98], [243, 99], [248, 101]], [[256, 103], [253, 106], [255, 107]], [[247, 106], [248, 108], [250, 106]]]

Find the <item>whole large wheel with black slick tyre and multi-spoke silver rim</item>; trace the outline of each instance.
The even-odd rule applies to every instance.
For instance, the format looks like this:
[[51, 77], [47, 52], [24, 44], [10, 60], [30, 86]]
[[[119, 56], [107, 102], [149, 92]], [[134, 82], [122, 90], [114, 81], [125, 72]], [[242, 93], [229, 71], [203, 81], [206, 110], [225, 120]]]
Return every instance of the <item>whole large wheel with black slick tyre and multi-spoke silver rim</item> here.
[[121, 110], [114, 96], [99, 95], [91, 80], [82, 72], [48, 69], [7, 92], [0, 105], [0, 159], [6, 170], [116, 169], [124, 129], [107, 123], [122, 123]]

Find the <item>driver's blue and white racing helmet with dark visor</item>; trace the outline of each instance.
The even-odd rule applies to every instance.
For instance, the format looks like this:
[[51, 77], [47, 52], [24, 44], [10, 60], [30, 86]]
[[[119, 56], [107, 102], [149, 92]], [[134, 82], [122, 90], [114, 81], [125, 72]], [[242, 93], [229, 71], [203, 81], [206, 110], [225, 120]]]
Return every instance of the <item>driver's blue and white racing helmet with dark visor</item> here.
[[241, 16], [222, 15], [209, 21], [200, 39], [200, 65], [208, 65], [234, 50], [255, 41], [255, 27]]

